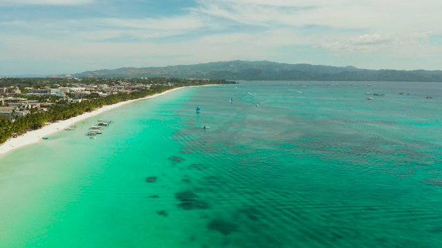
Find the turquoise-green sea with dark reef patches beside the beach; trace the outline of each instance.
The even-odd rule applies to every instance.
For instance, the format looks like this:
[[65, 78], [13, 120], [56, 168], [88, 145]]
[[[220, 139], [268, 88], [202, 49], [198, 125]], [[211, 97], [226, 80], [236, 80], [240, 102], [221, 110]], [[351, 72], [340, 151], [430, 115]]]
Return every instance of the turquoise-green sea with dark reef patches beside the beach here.
[[311, 81], [129, 103], [0, 156], [0, 247], [442, 247], [441, 106]]

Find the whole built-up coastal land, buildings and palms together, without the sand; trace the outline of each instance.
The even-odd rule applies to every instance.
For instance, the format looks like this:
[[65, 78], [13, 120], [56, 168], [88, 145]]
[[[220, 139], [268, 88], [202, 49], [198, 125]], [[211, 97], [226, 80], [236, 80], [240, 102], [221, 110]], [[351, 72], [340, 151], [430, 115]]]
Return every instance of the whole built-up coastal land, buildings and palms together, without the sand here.
[[158, 78], [0, 78], [0, 144], [48, 123], [177, 87], [233, 83]]

